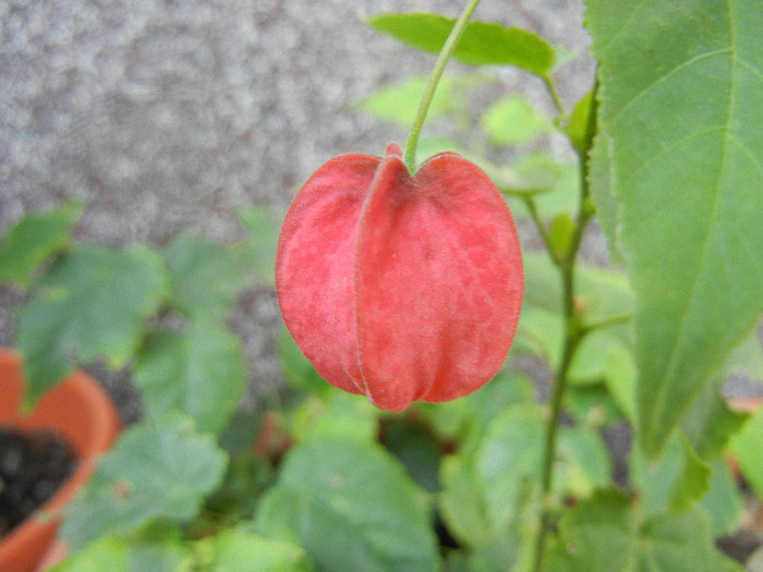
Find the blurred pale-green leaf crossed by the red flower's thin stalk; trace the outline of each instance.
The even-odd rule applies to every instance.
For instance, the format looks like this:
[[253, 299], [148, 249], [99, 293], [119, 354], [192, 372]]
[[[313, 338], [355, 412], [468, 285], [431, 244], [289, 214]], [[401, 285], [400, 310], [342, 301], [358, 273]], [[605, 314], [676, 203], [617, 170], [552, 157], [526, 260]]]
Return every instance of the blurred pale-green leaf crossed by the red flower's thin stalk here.
[[[361, 108], [378, 119], [409, 127], [416, 115], [419, 101], [427, 82], [428, 77], [422, 75], [411, 77], [391, 87], [384, 87], [361, 101]], [[455, 77], [446, 75], [440, 80], [426, 113], [427, 120], [437, 119], [452, 111], [453, 90], [457, 85], [458, 80]]]

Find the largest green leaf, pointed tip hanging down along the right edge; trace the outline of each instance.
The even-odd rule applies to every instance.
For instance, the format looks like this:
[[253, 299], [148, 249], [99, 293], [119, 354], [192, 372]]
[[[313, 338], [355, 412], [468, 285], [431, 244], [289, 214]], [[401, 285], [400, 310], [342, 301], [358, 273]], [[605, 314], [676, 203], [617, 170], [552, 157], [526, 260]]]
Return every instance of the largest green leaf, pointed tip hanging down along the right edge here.
[[589, 3], [655, 457], [763, 312], [763, 4]]

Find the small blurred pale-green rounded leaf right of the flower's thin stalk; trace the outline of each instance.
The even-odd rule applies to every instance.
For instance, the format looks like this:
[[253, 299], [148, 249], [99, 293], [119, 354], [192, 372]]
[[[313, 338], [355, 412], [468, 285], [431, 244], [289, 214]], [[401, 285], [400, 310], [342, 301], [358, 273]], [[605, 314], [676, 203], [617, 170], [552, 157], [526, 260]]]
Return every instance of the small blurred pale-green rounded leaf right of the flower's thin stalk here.
[[522, 96], [494, 102], [482, 115], [482, 129], [498, 146], [519, 145], [550, 131], [550, 123]]

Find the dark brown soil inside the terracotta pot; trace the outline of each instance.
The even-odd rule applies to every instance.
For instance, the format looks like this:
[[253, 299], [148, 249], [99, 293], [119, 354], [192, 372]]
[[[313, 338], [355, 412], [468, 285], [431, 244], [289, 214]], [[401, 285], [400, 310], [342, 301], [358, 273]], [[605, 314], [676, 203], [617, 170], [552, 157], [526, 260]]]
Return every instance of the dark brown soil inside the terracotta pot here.
[[53, 431], [0, 426], [0, 538], [52, 497], [76, 463], [72, 447]]

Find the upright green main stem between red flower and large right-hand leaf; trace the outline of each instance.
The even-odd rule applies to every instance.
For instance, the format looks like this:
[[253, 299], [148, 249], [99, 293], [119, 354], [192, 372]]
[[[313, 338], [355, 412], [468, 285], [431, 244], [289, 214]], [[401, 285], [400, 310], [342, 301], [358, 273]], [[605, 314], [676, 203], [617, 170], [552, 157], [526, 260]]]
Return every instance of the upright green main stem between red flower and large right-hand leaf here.
[[[582, 316], [576, 307], [574, 300], [574, 279], [576, 279], [576, 261], [580, 253], [580, 244], [583, 240], [585, 227], [593, 216], [593, 209], [590, 204], [589, 191], [589, 165], [588, 150], [593, 144], [593, 137], [597, 130], [596, 123], [596, 94], [594, 88], [593, 105], [589, 112], [589, 121], [585, 130], [585, 145], [580, 154], [580, 204], [578, 207], [578, 217], [576, 220], [574, 233], [570, 240], [569, 248], [566, 255], [558, 260], [558, 268], [561, 272], [562, 283], [562, 308], [565, 313], [565, 345], [561, 351], [561, 361], [554, 377], [554, 387], [550, 398], [550, 413], [548, 424], [546, 425], [546, 437], [543, 449], [543, 464], [541, 476], [541, 495], [543, 501], [543, 513], [541, 515], [541, 530], [538, 531], [535, 543], [535, 555], [533, 562], [533, 572], [541, 572], [543, 568], [543, 557], [546, 547], [546, 538], [554, 525], [555, 507], [553, 506], [553, 485], [554, 485], [554, 460], [556, 459], [556, 441], [559, 430], [559, 419], [561, 417], [561, 409], [564, 404], [565, 391], [567, 390], [568, 373], [574, 352], [580, 345], [581, 340], [590, 330], [585, 329], [582, 324]], [[554, 253], [549, 251], [554, 256]]]

